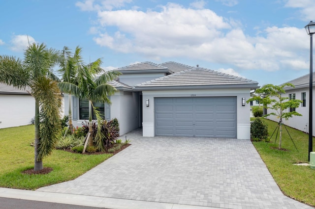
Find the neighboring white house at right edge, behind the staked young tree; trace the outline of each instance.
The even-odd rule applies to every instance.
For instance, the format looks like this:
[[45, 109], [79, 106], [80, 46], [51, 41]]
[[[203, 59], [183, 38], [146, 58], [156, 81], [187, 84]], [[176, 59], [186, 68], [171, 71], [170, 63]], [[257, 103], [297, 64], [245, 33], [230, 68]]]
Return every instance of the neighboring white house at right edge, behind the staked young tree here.
[[[313, 80], [315, 80], [315, 74], [313, 74]], [[303, 101], [303, 103], [295, 108], [295, 111], [302, 114], [303, 116], [293, 116], [288, 120], [284, 120], [284, 125], [298, 129], [300, 131], [309, 132], [309, 96], [310, 96], [310, 74], [296, 78], [286, 83], [292, 83], [293, 87], [285, 87], [285, 94], [282, 97], [288, 97], [289, 99], [297, 99]], [[315, 98], [315, 88], [313, 83], [313, 100]], [[294, 109], [287, 109], [287, 111], [293, 111]], [[313, 111], [315, 110], [315, 103], [313, 102]], [[270, 113], [270, 109], [267, 110]], [[279, 122], [279, 118], [276, 116], [269, 116], [268, 119]], [[315, 117], [313, 114], [313, 121]], [[313, 123], [313, 130], [315, 129], [315, 123]], [[314, 131], [313, 131], [314, 135]]]

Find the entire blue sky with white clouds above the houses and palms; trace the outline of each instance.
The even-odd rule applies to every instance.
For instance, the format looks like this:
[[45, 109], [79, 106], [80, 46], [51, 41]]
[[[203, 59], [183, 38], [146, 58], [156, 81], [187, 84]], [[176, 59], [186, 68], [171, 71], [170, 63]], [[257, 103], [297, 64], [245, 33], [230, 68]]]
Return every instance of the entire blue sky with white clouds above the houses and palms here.
[[281, 84], [309, 73], [313, 0], [0, 0], [0, 54], [83, 47], [105, 69], [175, 61]]

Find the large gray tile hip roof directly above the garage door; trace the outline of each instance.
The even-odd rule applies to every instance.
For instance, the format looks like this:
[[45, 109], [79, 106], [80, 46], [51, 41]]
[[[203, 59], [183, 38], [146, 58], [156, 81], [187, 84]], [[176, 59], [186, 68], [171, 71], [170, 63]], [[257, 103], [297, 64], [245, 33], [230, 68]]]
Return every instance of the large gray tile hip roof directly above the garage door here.
[[232, 87], [248, 87], [255, 89], [258, 88], [258, 82], [205, 68], [191, 67], [187, 70], [134, 86], [137, 90]]

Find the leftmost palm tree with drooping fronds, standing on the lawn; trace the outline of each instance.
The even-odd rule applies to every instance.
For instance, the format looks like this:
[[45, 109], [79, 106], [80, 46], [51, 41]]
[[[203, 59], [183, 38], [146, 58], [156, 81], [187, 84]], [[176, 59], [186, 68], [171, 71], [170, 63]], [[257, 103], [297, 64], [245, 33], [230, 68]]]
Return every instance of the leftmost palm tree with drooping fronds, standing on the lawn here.
[[18, 88], [31, 87], [35, 99], [34, 170], [43, 169], [43, 158], [56, 143], [60, 130], [61, 93], [53, 74], [59, 52], [44, 44], [32, 44], [24, 60], [0, 56], [0, 81]]

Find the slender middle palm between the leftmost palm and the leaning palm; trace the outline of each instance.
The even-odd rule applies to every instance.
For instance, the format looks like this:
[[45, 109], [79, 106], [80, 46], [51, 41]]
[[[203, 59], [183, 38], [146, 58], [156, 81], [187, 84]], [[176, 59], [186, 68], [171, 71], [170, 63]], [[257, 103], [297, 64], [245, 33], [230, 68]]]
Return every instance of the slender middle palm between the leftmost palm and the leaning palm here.
[[68, 123], [69, 131], [72, 134], [72, 112], [71, 112], [71, 95], [79, 96], [79, 87], [76, 83], [76, 75], [78, 69], [82, 66], [83, 60], [81, 56], [82, 48], [77, 46], [75, 52], [72, 55], [68, 47], [63, 47], [62, 56], [60, 57], [61, 69], [59, 72], [62, 73], [62, 82], [58, 83], [60, 89], [63, 92], [68, 93], [69, 101], [69, 112], [68, 112]]

